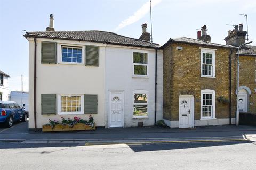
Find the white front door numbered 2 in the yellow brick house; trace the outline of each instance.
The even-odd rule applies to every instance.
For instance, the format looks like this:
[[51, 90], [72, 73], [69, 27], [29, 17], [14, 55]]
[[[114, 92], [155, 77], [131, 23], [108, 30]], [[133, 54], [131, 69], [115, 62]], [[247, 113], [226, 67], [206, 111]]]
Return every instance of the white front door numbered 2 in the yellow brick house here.
[[191, 128], [194, 126], [194, 97], [182, 95], [179, 97], [179, 127]]

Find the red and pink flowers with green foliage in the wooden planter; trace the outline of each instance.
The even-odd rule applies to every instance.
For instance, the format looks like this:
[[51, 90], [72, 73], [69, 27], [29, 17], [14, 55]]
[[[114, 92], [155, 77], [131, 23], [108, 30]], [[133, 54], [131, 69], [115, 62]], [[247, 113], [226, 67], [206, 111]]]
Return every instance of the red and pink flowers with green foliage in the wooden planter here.
[[61, 124], [62, 126], [68, 125], [69, 128], [73, 128], [74, 125], [77, 123], [83, 123], [83, 124], [91, 126], [92, 128], [94, 126], [93, 117], [92, 117], [92, 115], [89, 115], [89, 120], [83, 120], [83, 118], [79, 118], [76, 116], [73, 119], [71, 119], [71, 118], [66, 119], [64, 117], [61, 117], [61, 121], [49, 119], [49, 123], [44, 124], [43, 127], [51, 126], [52, 128], [54, 128], [55, 125]]

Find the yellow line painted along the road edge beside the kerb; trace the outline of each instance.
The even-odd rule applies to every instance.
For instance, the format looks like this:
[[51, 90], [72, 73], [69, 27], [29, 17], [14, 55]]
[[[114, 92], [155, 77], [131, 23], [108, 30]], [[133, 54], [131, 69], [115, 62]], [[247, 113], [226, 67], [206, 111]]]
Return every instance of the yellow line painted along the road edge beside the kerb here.
[[249, 139], [224, 139], [224, 140], [187, 140], [187, 141], [148, 141], [148, 142], [123, 142], [123, 143], [85, 143], [85, 146], [90, 145], [113, 145], [113, 144], [127, 144], [138, 145], [143, 143], [189, 143], [189, 142], [228, 142], [228, 141], [250, 141]]

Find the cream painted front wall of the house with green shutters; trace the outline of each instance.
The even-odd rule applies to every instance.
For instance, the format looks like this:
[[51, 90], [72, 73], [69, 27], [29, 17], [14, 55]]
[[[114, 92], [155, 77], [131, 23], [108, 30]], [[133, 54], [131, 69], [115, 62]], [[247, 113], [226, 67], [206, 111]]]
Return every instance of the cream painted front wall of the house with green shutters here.
[[[29, 128], [34, 128], [34, 39], [29, 40]], [[99, 67], [71, 64], [41, 64], [41, 41], [76, 45], [100, 46]], [[105, 125], [105, 45], [68, 40], [37, 39], [37, 71], [36, 71], [36, 119], [37, 128], [50, 119], [61, 120], [61, 117], [83, 117], [84, 115], [41, 115], [41, 94], [98, 94], [98, 114], [93, 114], [97, 126]]]

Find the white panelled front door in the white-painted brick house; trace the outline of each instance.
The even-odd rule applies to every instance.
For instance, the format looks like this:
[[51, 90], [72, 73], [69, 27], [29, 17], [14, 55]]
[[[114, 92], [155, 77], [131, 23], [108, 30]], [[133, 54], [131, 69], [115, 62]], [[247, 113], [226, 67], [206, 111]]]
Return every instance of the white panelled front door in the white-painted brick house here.
[[123, 92], [109, 94], [109, 127], [123, 127]]

